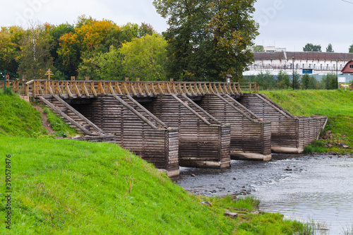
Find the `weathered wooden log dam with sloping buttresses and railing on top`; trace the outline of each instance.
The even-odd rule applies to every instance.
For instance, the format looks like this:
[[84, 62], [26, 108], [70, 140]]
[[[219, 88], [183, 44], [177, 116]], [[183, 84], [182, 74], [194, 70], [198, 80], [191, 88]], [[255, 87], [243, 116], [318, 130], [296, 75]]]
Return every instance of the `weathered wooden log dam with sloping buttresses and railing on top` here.
[[168, 176], [178, 175], [179, 166], [222, 168], [231, 159], [303, 152], [327, 121], [289, 114], [258, 94], [256, 83], [8, 80], [6, 86], [40, 100], [84, 135], [79, 140], [116, 143]]

